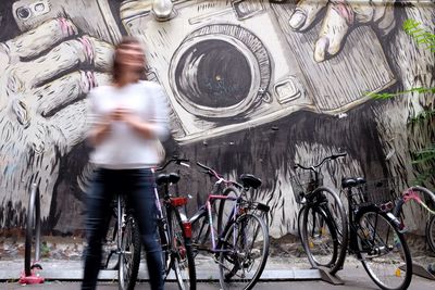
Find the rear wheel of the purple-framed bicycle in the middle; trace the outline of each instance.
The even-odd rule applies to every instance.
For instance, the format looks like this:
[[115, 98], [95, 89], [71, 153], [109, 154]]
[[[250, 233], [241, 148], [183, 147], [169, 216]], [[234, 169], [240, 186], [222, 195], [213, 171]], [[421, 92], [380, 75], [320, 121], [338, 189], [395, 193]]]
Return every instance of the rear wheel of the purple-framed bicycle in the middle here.
[[[254, 239], [252, 241], [247, 242], [241, 241], [243, 239], [247, 238], [246, 230], [250, 229], [249, 222], [252, 220], [257, 226], [253, 226], [254, 235], [253, 238], [258, 238], [259, 231], [261, 231], [262, 239], [260, 238], [259, 245], [262, 248], [260, 249], [260, 254], [257, 252], [252, 252], [252, 249], [245, 249], [247, 244], [252, 247], [256, 245]], [[259, 226], [259, 227], [258, 227]], [[236, 227], [236, 230], [234, 228]], [[233, 234], [237, 232], [237, 237], [233, 237]], [[241, 235], [240, 235], [241, 234]], [[244, 290], [249, 290], [254, 287], [257, 281], [260, 279], [261, 274], [263, 273], [264, 266], [268, 261], [269, 256], [269, 231], [268, 227], [264, 224], [264, 220], [254, 214], [244, 214], [237, 217], [236, 220], [232, 222], [224, 231], [224, 240], [219, 244], [219, 249], [221, 249], [221, 253], [219, 254], [219, 268], [220, 268], [220, 283], [224, 290], [229, 289], [240, 289], [240, 283], [246, 283], [243, 288]], [[233, 252], [234, 245], [232, 244], [236, 238], [236, 244], [241, 242], [241, 247], [245, 250], [243, 254], [239, 252]], [[246, 251], [248, 250], [248, 252]], [[256, 263], [256, 256], [260, 257], [260, 263], [258, 264], [257, 270], [254, 270], [253, 275], [245, 276], [245, 269], [252, 269]], [[240, 257], [244, 260], [240, 261]], [[229, 262], [231, 266], [225, 266], [225, 262]], [[225, 273], [225, 270], [228, 270]], [[239, 274], [241, 270], [241, 274]], [[235, 276], [240, 277], [240, 279], [234, 279]], [[236, 285], [234, 285], [236, 282]]]

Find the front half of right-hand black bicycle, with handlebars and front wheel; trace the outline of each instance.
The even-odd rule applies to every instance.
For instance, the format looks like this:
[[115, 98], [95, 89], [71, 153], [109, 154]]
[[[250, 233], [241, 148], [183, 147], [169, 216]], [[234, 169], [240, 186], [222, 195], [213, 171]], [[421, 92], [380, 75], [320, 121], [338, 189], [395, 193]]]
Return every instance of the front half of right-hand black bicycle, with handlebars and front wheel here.
[[348, 244], [348, 223], [341, 200], [335, 191], [323, 186], [321, 168], [325, 162], [346, 156], [337, 153], [324, 157], [314, 166], [296, 163], [290, 184], [297, 203], [298, 235], [308, 260], [314, 268], [326, 268], [331, 274], [341, 269]]

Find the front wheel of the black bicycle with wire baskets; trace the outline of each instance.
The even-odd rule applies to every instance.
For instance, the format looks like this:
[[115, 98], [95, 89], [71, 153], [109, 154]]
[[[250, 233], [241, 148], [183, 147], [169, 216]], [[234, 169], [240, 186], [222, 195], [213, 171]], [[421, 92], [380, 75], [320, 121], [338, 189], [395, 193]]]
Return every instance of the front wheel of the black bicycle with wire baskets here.
[[311, 266], [335, 267], [338, 255], [337, 232], [322, 207], [304, 209], [301, 241]]

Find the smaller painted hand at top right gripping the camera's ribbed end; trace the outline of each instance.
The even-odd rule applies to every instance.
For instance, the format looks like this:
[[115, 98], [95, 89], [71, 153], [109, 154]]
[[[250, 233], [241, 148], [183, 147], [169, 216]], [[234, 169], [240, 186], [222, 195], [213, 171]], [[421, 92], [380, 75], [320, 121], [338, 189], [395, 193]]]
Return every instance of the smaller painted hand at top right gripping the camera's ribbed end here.
[[346, 36], [356, 26], [371, 25], [381, 35], [387, 35], [395, 27], [394, 2], [395, 0], [300, 0], [289, 25], [297, 31], [307, 30], [318, 15], [326, 10], [314, 47], [314, 60], [322, 62], [339, 52]]

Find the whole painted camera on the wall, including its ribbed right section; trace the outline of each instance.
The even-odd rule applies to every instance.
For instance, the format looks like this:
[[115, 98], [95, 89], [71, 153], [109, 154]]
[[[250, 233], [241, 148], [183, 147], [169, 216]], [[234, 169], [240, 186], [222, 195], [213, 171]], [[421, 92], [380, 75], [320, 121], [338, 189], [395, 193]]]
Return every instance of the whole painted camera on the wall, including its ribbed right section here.
[[[340, 115], [395, 83], [370, 27], [357, 27], [331, 61], [313, 50], [321, 22], [297, 33], [287, 1], [173, 1], [166, 22], [151, 4], [124, 1], [128, 34], [165, 88], [174, 137], [192, 142], [258, 126], [306, 110]], [[376, 72], [376, 73], [374, 73]]]

